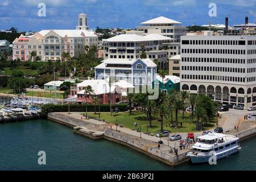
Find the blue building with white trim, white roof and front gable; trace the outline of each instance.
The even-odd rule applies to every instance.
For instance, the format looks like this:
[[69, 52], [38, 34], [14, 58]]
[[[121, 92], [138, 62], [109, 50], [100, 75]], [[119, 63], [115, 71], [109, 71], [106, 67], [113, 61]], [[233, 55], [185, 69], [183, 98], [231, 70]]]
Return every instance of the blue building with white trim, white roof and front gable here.
[[151, 86], [156, 78], [156, 64], [151, 59], [107, 59], [95, 67], [96, 80], [105, 80], [110, 76], [134, 86]]

